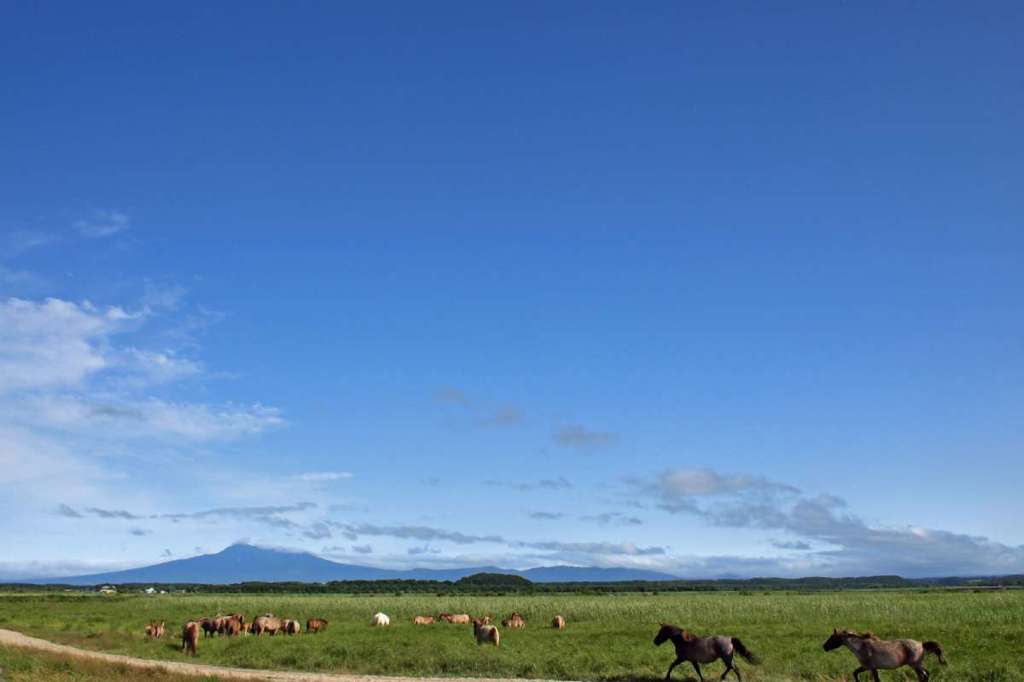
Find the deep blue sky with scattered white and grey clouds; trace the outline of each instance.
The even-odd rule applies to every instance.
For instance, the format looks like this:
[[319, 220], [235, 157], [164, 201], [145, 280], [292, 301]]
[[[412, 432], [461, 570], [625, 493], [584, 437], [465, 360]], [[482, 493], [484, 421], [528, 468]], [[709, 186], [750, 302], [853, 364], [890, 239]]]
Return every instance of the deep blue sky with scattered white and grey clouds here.
[[0, 576], [1024, 572], [1018, 3], [0, 22]]

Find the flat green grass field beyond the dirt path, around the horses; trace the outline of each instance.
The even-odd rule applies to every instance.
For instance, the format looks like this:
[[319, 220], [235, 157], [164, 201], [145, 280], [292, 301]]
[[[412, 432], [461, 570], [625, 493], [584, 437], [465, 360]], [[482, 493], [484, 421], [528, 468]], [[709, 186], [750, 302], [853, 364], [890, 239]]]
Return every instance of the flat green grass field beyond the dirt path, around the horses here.
[[[374, 629], [383, 610], [391, 627]], [[502, 632], [502, 646], [478, 647], [469, 626], [413, 626], [415, 614], [440, 611], [492, 614], [521, 612], [527, 627]], [[848, 651], [826, 653], [821, 643], [833, 627], [871, 630], [882, 637], [933, 639], [946, 649], [949, 667], [929, 657], [934, 680], [1024, 682], [1024, 591], [990, 592], [772, 592], [614, 594], [603, 596], [428, 595], [166, 595], [0, 596], [0, 627], [52, 641], [148, 658], [183, 659], [178, 648], [186, 620], [239, 611], [247, 620], [270, 611], [302, 623], [326, 617], [319, 635], [204, 639], [198, 662], [247, 668], [411, 676], [535, 677], [575, 680], [660, 679], [672, 645], [655, 647], [658, 622], [698, 634], [740, 637], [763, 664], [740, 662], [755, 681], [851, 679]], [[552, 615], [568, 621], [564, 632], [547, 627]], [[151, 620], [167, 622], [169, 637], [146, 641]], [[717, 679], [720, 663], [706, 668]], [[912, 680], [912, 673], [884, 673]], [[696, 679], [680, 666], [675, 679]], [[731, 679], [731, 676], [730, 676]]]

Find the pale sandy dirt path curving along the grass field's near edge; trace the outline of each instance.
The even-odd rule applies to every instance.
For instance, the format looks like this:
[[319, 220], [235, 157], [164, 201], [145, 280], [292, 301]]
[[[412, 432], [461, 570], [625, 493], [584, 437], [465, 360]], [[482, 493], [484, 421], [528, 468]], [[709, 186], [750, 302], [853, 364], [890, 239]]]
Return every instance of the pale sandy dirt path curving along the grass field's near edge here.
[[[13, 630], [0, 629], [0, 646], [16, 646], [23, 649], [47, 651], [77, 658], [88, 658], [112, 665], [128, 666], [138, 670], [164, 670], [179, 675], [216, 676], [222, 680], [266, 680], [270, 682], [413, 682], [414, 680], [443, 680], [444, 682], [527, 682], [526, 680], [499, 680], [493, 678], [430, 678], [430, 677], [383, 677], [376, 675], [329, 675], [326, 673], [292, 673], [272, 670], [252, 670], [248, 668], [223, 668], [204, 666], [180, 660], [156, 660], [135, 658], [115, 653], [89, 651], [75, 646], [54, 644], [45, 639], [29, 637]], [[529, 680], [528, 682], [544, 682]]]

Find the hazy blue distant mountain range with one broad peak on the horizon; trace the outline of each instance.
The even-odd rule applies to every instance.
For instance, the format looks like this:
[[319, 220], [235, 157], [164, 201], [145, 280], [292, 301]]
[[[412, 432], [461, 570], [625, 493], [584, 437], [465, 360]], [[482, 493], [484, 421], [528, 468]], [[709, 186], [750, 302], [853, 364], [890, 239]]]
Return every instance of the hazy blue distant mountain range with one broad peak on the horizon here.
[[425, 580], [457, 581], [473, 573], [521, 576], [534, 583], [613, 583], [620, 581], [673, 581], [675, 576], [637, 568], [593, 566], [541, 566], [512, 570], [497, 566], [466, 568], [410, 568], [394, 570], [338, 563], [307, 552], [267, 549], [253, 545], [231, 545], [216, 554], [90, 576], [30, 579], [36, 585], [99, 585], [102, 583], [327, 583], [330, 581]]

